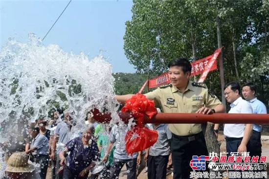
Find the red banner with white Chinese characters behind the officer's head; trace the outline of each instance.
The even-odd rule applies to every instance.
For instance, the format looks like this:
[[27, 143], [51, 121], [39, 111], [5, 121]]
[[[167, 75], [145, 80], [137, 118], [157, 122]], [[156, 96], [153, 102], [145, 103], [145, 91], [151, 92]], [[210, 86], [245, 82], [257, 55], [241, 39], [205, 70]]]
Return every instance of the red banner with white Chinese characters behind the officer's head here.
[[[206, 78], [209, 71], [218, 69], [217, 66], [217, 57], [219, 56], [222, 48], [217, 49], [212, 55], [205, 57], [203, 59], [192, 62], [192, 71], [191, 76], [202, 74], [199, 79], [200, 82], [203, 82]], [[156, 78], [150, 79], [149, 88], [156, 88], [165, 84], [170, 83], [168, 72], [163, 73]]]

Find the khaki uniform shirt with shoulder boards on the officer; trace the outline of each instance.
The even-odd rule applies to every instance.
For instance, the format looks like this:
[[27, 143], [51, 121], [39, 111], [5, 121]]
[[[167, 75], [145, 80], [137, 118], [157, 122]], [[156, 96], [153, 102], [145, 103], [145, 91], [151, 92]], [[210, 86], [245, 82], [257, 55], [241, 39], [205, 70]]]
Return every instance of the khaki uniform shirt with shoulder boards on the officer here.
[[[189, 81], [186, 90], [180, 91], [172, 84], [148, 92], [145, 96], [162, 108], [163, 112], [193, 113], [202, 107], [214, 109], [221, 101], [212, 95], [206, 86], [197, 86]], [[169, 124], [173, 134], [186, 136], [202, 131], [201, 124]]]

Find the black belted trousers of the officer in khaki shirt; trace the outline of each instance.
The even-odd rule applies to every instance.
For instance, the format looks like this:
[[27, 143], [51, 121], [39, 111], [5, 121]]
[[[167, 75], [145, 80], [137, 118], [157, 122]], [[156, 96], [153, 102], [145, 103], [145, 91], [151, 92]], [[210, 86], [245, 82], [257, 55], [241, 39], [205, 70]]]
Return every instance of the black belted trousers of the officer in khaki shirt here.
[[[193, 169], [190, 167], [190, 161], [193, 156], [208, 156], [202, 132], [191, 136], [172, 134], [170, 149], [174, 167], [173, 179], [192, 179], [190, 178], [190, 172]], [[209, 173], [208, 162], [206, 162], [206, 170], [201, 172]]]

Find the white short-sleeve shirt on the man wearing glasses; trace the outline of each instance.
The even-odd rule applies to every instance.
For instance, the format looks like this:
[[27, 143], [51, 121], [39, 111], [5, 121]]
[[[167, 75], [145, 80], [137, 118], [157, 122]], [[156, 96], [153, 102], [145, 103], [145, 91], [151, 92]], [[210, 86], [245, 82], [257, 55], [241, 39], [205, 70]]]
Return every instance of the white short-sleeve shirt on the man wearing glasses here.
[[[236, 99], [230, 104], [230, 111], [228, 113], [252, 113], [251, 105], [242, 97]], [[225, 124], [224, 135], [226, 137], [241, 138], [244, 136], [246, 124]]]

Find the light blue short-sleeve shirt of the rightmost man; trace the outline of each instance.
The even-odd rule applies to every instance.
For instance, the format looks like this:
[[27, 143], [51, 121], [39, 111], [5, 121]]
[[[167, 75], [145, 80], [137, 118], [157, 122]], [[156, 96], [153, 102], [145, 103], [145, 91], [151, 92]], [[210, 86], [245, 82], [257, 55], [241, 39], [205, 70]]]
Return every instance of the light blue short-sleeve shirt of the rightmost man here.
[[[251, 105], [253, 114], [267, 114], [266, 106], [257, 98], [251, 99], [247, 102], [249, 102], [249, 104]], [[262, 132], [262, 125], [254, 124], [253, 130], [257, 132]]]

